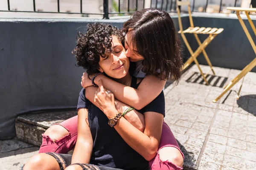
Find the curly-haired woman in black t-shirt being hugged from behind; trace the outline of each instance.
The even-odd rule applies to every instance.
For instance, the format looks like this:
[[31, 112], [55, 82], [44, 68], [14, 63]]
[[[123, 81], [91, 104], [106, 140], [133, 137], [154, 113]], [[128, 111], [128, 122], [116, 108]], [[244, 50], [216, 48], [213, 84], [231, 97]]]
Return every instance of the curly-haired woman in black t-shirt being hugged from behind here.
[[[136, 89], [142, 79], [129, 73], [130, 61], [122, 42], [122, 30], [100, 23], [88, 25], [87, 33], [79, 34], [74, 50], [79, 57], [77, 64], [87, 69], [89, 75], [104, 73], [110, 79]], [[39, 153], [29, 159], [23, 170], [149, 169], [148, 161], [154, 158], [160, 144], [165, 116], [163, 91], [140, 111], [129, 107], [120, 113], [113, 93], [103, 87], [101, 79], [98, 85], [94, 103], [85, 97], [84, 88], [79, 94], [78, 137], [73, 155]], [[119, 103], [121, 105], [124, 104]], [[143, 132], [125, 118], [127, 112], [143, 113]]]

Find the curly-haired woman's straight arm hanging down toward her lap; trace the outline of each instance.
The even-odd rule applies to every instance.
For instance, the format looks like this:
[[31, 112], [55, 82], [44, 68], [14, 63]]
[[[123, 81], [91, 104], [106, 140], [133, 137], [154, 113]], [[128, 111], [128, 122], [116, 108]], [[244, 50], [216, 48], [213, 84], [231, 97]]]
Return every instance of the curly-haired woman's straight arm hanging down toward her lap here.
[[88, 109], [80, 108], [78, 110], [77, 133], [78, 136], [71, 164], [88, 164], [90, 162], [90, 156], [93, 150], [93, 138], [90, 133], [90, 127], [88, 122]]

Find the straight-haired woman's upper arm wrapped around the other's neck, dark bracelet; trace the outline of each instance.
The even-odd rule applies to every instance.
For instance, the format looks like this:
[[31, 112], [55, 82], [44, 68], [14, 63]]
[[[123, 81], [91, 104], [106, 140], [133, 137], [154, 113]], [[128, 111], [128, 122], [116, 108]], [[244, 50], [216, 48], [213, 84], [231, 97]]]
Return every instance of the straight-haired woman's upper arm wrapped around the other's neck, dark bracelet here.
[[[102, 79], [103, 86], [113, 92], [115, 98], [137, 110], [144, 108], [148, 103], [153, 101], [163, 90], [166, 80], [160, 80], [152, 75], [146, 76], [137, 89], [122, 85], [104, 75], [100, 74], [94, 79], [94, 83], [99, 85], [99, 79]], [[87, 73], [82, 76], [81, 85], [86, 88], [91, 85]]]

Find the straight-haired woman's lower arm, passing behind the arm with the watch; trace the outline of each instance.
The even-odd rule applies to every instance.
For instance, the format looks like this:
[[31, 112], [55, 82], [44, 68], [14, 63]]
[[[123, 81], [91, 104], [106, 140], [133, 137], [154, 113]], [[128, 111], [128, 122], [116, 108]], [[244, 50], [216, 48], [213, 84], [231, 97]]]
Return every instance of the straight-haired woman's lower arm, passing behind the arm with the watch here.
[[[94, 102], [94, 96], [95, 96], [95, 92], [98, 90], [98, 88], [90, 86], [86, 88], [85, 91], [85, 97], [87, 99], [90, 100], [90, 102], [92, 102], [95, 105]], [[129, 108], [130, 106], [125, 105], [124, 103], [115, 100], [115, 106], [116, 106], [116, 110], [119, 113], [123, 113], [127, 108]], [[124, 118], [126, 120], [128, 120], [128, 122], [131, 123], [131, 125], [133, 125], [134, 127], [136, 127], [138, 130], [140, 130], [141, 132], [144, 131], [145, 129], [145, 120], [144, 120], [144, 115], [139, 113], [136, 110], [132, 110], [129, 111], [127, 114], [125, 114]]]

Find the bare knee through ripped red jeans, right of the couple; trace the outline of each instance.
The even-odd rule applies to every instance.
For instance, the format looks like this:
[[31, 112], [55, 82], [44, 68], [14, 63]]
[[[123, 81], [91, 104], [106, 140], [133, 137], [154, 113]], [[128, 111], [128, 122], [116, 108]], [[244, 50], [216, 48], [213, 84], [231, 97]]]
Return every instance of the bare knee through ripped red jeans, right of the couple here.
[[159, 158], [161, 162], [171, 162], [178, 167], [183, 166], [183, 156], [175, 147], [163, 147], [159, 150]]

